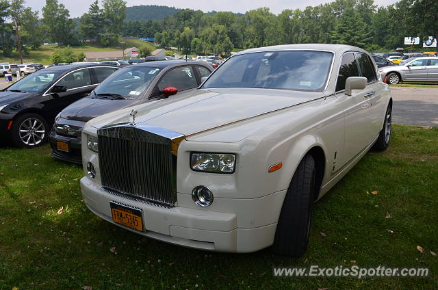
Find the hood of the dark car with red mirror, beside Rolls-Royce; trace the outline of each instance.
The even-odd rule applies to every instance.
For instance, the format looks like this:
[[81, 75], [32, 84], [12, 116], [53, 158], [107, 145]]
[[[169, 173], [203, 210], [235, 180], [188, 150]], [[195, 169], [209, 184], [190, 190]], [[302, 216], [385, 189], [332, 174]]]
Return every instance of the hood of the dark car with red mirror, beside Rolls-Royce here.
[[81, 98], [69, 105], [60, 113], [60, 118], [88, 122], [92, 118], [131, 107], [140, 103], [140, 100], [114, 100], [109, 98]]

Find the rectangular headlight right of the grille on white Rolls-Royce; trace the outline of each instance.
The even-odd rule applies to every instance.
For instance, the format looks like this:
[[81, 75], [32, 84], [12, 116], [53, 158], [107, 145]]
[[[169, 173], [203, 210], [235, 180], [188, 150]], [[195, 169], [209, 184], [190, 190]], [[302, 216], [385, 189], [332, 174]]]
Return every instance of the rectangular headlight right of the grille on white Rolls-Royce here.
[[233, 173], [235, 155], [223, 153], [192, 153], [190, 168], [194, 171], [211, 173]]

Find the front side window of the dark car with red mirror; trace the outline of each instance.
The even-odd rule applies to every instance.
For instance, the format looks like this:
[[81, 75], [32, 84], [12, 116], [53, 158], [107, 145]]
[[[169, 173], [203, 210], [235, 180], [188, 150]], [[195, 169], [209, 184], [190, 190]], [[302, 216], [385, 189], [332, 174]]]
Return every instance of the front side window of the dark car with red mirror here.
[[160, 92], [169, 86], [175, 87], [181, 92], [182, 90], [196, 88], [198, 82], [194, 76], [192, 66], [181, 66], [168, 71], [159, 81], [157, 86]]

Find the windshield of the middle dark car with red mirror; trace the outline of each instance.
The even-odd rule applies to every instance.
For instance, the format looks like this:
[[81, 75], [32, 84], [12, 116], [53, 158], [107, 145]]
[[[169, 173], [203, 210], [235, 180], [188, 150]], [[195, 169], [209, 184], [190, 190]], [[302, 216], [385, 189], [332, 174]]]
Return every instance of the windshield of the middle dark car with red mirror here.
[[141, 98], [160, 70], [161, 68], [151, 66], [128, 66], [117, 70], [107, 77], [90, 97]]

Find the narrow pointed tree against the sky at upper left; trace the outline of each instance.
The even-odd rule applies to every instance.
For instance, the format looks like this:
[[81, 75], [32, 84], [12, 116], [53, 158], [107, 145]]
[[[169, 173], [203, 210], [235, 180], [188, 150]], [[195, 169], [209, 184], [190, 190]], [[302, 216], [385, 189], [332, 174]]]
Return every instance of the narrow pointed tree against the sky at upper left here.
[[88, 13], [84, 13], [79, 21], [78, 32], [86, 39], [96, 38], [100, 42], [100, 34], [105, 26], [103, 9], [99, 7], [99, 0], [91, 3]]

